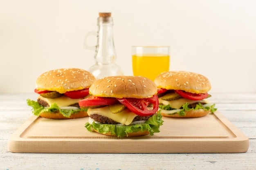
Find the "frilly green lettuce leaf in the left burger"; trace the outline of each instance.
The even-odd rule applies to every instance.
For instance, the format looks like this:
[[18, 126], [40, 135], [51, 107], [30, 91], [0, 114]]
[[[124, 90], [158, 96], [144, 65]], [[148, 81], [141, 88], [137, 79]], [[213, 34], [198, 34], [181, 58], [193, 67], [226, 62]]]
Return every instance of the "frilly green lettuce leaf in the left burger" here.
[[87, 108], [79, 108], [78, 110], [63, 110], [60, 109], [58, 104], [53, 103], [50, 107], [45, 108], [44, 106], [41, 106], [38, 102], [33, 101], [31, 99], [27, 99], [27, 105], [32, 107], [32, 113], [39, 117], [40, 113], [43, 112], [51, 112], [54, 113], [57, 110], [59, 113], [61, 113], [65, 117], [70, 117], [71, 114], [76, 114], [80, 111], [87, 112]]

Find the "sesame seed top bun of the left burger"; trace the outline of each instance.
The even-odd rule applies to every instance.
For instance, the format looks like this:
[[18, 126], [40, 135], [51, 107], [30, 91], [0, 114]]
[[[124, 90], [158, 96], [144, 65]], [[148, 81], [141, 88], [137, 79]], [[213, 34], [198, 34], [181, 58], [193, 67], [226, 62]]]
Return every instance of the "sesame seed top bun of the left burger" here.
[[92, 73], [83, 69], [61, 68], [40, 75], [36, 79], [36, 89], [66, 93], [89, 88], [95, 80]]

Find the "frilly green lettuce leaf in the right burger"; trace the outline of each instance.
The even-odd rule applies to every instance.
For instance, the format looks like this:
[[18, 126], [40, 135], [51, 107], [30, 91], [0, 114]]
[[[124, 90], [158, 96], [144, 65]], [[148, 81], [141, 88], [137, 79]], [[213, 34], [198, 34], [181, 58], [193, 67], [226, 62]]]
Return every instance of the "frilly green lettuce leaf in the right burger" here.
[[[175, 110], [175, 108], [171, 108], [170, 104], [159, 105], [159, 108], [161, 108], [163, 110]], [[189, 103], [186, 103], [186, 104], [182, 105], [182, 110], [180, 110], [177, 113], [171, 113], [171, 115], [179, 114], [180, 116], [185, 116], [186, 115], [185, 111], [198, 110], [198, 109], [211, 110], [211, 113], [214, 113], [217, 110], [217, 108], [215, 108], [215, 104], [212, 104], [211, 106], [203, 107], [201, 103], [198, 103], [198, 104], [196, 104], [195, 108], [189, 108]]]

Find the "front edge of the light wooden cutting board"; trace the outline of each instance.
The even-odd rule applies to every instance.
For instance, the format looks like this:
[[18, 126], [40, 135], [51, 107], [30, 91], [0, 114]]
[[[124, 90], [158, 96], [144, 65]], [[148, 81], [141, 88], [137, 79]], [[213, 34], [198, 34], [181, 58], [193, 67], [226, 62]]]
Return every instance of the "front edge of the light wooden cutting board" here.
[[[29, 148], [22, 147], [25, 141], [13, 141], [10, 151], [14, 153], [242, 153], [247, 152], [249, 141], [233, 142], [194, 142], [187, 141], [148, 141], [143, 144], [136, 142], [95, 141], [84, 143], [81, 141], [66, 141], [59, 143], [52, 141], [51, 147], [45, 146], [44, 141], [36, 141]], [[111, 146], [115, 146], [113, 149]], [[150, 147], [153, 146], [153, 147]], [[193, 147], [191, 147], [193, 146]], [[242, 146], [242, 147], [241, 147]], [[150, 147], [150, 150], [148, 148]], [[164, 148], [163, 148], [164, 147]], [[101, 150], [99, 148], [105, 148]], [[130, 148], [133, 148], [132, 150]], [[198, 152], [194, 148], [199, 148]], [[218, 150], [216, 150], [218, 148]]]

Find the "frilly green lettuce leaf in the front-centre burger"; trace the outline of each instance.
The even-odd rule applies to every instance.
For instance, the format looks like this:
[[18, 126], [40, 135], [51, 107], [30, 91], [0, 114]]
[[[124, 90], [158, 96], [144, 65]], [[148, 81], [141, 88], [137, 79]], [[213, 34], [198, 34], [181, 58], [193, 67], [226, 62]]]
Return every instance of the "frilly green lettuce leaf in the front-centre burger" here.
[[155, 132], [160, 132], [159, 128], [162, 126], [163, 122], [162, 115], [158, 112], [150, 117], [144, 124], [117, 126], [113, 124], [96, 124], [93, 121], [92, 124], [86, 123], [85, 128], [90, 132], [95, 129], [102, 134], [111, 132], [112, 135], [116, 135], [117, 137], [127, 137], [130, 132], [148, 130], [150, 136], [152, 136]]

